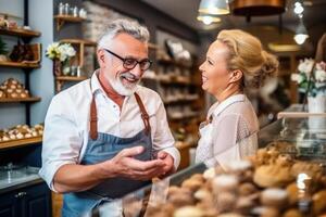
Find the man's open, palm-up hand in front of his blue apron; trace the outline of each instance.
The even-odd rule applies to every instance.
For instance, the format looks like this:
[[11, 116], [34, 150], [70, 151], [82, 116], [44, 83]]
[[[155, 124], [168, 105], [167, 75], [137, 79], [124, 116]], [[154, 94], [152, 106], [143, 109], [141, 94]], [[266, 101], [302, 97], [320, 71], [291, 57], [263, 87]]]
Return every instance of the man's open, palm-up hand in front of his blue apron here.
[[106, 179], [122, 176], [135, 180], [150, 180], [153, 177], [162, 176], [170, 168], [166, 166], [170, 161], [164, 157], [147, 162], [134, 158], [141, 152], [143, 152], [142, 146], [125, 149], [112, 159], [100, 163], [101, 177]]

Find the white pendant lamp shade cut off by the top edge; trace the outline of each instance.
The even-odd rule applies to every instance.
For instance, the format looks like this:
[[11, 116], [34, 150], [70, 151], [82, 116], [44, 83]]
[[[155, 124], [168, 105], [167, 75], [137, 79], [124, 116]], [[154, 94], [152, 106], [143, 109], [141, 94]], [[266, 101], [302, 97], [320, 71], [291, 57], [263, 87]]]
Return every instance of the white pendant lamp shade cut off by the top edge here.
[[201, 0], [198, 11], [203, 14], [229, 14], [228, 0]]

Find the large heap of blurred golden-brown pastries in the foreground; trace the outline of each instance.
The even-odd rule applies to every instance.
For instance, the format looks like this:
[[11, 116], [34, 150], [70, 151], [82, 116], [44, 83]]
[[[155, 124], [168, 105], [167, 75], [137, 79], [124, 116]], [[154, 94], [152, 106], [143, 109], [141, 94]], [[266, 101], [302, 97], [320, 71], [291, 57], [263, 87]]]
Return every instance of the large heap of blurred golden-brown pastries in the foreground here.
[[326, 176], [318, 164], [298, 161], [276, 148], [266, 148], [225, 168], [208, 168], [184, 180], [179, 187], [170, 187], [165, 201], [149, 205], [150, 214], [167, 217], [326, 214]]

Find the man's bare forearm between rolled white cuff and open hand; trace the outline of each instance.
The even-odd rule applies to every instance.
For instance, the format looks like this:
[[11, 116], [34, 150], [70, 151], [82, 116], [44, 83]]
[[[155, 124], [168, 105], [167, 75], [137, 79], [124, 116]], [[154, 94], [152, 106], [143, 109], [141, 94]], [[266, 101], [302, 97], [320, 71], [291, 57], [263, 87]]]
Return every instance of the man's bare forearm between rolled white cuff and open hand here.
[[60, 193], [85, 191], [97, 186], [103, 179], [101, 167], [98, 164], [66, 164], [55, 173], [53, 187]]

